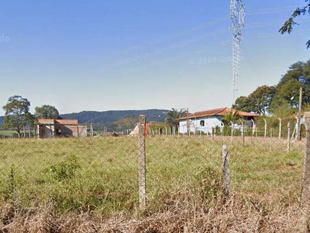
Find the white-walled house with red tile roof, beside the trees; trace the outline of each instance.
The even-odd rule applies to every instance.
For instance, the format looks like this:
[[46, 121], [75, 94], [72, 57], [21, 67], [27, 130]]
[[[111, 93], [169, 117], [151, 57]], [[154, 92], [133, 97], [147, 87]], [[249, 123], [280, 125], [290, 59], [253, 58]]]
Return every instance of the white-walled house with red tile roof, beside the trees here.
[[[225, 114], [236, 111], [231, 108], [217, 108], [206, 110], [202, 112], [196, 112], [185, 117], [181, 117], [179, 120], [179, 133], [187, 133], [187, 127], [189, 125], [190, 132], [203, 132], [203, 133], [212, 133], [212, 128], [219, 127], [220, 129], [223, 126], [222, 119]], [[256, 117], [260, 116], [259, 114], [247, 113], [238, 111], [240, 116], [243, 116], [244, 120], [248, 121], [247, 125], [250, 127], [256, 126]], [[188, 121], [188, 122], [187, 122]], [[234, 122], [233, 127], [241, 128], [241, 125]]]

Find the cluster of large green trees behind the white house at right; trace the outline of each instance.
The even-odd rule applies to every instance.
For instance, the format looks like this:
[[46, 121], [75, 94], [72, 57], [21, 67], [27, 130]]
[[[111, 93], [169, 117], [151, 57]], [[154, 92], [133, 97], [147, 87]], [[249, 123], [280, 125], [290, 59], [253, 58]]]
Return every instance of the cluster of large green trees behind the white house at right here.
[[[248, 96], [239, 97], [233, 108], [261, 115], [288, 116], [296, 113], [296, 93], [303, 88], [303, 106], [310, 104], [310, 61], [297, 62], [289, 67], [275, 86], [259, 86]], [[292, 98], [294, 97], [294, 98]]]

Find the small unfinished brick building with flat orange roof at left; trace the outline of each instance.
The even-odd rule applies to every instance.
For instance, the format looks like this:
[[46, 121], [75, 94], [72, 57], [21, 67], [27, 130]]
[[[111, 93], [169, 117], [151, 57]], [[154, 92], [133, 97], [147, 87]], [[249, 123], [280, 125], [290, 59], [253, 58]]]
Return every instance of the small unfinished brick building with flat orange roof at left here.
[[[92, 134], [92, 125], [90, 127]], [[35, 133], [38, 138], [85, 137], [87, 130], [88, 125], [78, 124], [77, 119], [39, 119]]]

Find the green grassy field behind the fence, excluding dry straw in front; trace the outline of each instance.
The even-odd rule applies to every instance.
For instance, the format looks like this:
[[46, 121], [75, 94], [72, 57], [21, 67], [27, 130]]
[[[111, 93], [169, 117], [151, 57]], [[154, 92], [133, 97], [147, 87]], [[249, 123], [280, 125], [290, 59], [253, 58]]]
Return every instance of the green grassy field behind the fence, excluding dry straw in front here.
[[[298, 204], [304, 141], [216, 136], [146, 139], [147, 209], [160, 213], [175, 200], [222, 197], [222, 144], [228, 144], [233, 195], [264, 208]], [[137, 138], [0, 140], [0, 206], [52, 205], [66, 213], [104, 216], [138, 212]], [[182, 196], [182, 198], [181, 198]], [[180, 199], [181, 198], [181, 199]], [[177, 202], [179, 203], [179, 202]], [[277, 207], [277, 208], [278, 208]]]

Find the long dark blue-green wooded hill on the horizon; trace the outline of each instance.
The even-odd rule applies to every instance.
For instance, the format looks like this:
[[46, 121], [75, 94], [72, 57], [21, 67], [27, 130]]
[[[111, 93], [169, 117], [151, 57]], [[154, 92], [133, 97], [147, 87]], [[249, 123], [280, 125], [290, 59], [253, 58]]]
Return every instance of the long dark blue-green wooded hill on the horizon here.
[[[108, 131], [116, 131], [117, 128], [113, 124], [116, 120], [122, 119], [126, 116], [134, 116], [137, 121], [141, 114], [146, 116], [146, 120], [164, 122], [166, 120], [166, 109], [147, 109], [147, 110], [115, 110], [115, 111], [83, 111], [79, 113], [62, 114], [63, 119], [78, 119], [80, 124], [93, 123], [93, 129], [102, 131], [104, 126], [107, 126]], [[160, 118], [158, 117], [160, 115]], [[4, 116], [0, 116], [0, 125], [4, 120]]]

